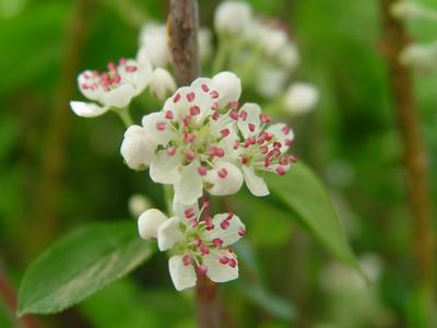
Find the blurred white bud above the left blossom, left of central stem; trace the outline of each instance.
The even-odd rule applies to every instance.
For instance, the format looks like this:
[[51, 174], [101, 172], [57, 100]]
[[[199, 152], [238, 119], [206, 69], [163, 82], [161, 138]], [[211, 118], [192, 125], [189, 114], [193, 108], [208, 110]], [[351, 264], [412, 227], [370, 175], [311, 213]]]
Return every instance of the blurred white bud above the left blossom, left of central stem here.
[[141, 28], [140, 45], [146, 51], [154, 68], [165, 67], [169, 60], [167, 34], [164, 24], [156, 22], [144, 24]]

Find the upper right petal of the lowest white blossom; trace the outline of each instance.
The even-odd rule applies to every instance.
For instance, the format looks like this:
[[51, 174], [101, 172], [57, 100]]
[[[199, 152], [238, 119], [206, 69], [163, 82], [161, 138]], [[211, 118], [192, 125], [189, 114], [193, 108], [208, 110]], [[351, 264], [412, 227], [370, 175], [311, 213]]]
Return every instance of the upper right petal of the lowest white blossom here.
[[205, 233], [206, 238], [213, 241], [214, 238], [220, 238], [223, 241], [222, 246], [226, 247], [236, 243], [240, 239], [245, 232], [245, 224], [239, 220], [237, 215], [233, 215], [227, 222], [229, 223], [228, 226], [222, 227], [222, 222], [226, 221], [228, 213], [216, 214], [212, 219], [212, 223], [214, 224], [214, 229], [210, 232]]

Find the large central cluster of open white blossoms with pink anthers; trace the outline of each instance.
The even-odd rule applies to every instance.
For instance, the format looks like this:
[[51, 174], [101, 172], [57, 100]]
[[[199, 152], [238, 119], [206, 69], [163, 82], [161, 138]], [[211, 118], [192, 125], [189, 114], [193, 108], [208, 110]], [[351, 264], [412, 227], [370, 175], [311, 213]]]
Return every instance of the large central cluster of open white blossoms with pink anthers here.
[[294, 134], [284, 124], [269, 126], [257, 104], [239, 107], [240, 81], [231, 72], [197, 79], [168, 98], [161, 112], [143, 117], [125, 133], [121, 154], [134, 169], [150, 166], [153, 181], [174, 185], [182, 203], [202, 190], [224, 196], [245, 180], [256, 196], [269, 194], [260, 171], [283, 175]]

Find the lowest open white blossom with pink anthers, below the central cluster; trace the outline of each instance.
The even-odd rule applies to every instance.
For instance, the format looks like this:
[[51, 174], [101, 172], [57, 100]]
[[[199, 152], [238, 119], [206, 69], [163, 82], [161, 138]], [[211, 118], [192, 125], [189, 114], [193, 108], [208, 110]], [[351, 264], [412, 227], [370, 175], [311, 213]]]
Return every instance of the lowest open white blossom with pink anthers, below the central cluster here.
[[168, 269], [178, 291], [194, 286], [197, 274], [206, 274], [214, 282], [238, 278], [238, 260], [228, 246], [245, 235], [245, 225], [232, 212], [201, 221], [202, 210], [175, 199], [175, 216], [162, 221], [161, 215], [154, 215], [155, 223], [161, 223], [158, 248], [172, 250]]

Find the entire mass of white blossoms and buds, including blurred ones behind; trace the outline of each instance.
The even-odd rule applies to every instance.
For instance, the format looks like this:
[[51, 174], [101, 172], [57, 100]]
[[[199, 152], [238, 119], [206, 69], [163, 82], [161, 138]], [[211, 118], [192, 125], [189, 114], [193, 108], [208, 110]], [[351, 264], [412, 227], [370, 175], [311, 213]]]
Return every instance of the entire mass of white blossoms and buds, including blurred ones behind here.
[[[258, 86], [262, 84], [259, 91], [267, 97], [282, 92], [298, 60], [283, 30], [256, 19], [241, 2], [220, 5], [214, 25], [220, 43], [228, 38], [233, 49], [238, 50], [225, 54], [218, 46], [222, 55], [216, 54], [214, 61], [218, 59], [220, 63], [225, 58], [244, 67], [246, 73], [255, 72], [243, 79], [248, 84], [251, 80]], [[212, 54], [211, 33], [201, 30], [199, 37], [200, 55], [206, 60]], [[229, 246], [245, 235], [245, 225], [233, 212], [210, 216], [206, 201], [200, 199], [205, 191], [233, 195], [244, 184], [255, 196], [268, 195], [264, 172], [284, 175], [295, 162], [290, 154], [293, 130], [285, 124], [272, 125], [258, 104], [240, 105], [241, 80], [231, 71], [220, 69], [212, 79], [199, 78], [176, 90], [166, 69], [169, 51], [163, 25], [145, 25], [140, 43], [137, 59], [109, 62], [102, 73], [81, 73], [79, 87], [92, 102], [71, 102], [71, 108], [83, 117], [99, 116], [109, 109], [118, 113], [127, 125], [120, 148], [125, 163], [135, 171], [149, 168], [153, 181], [173, 186], [170, 218], [150, 209], [147, 201], [139, 197], [132, 198], [130, 208], [140, 214], [140, 236], [156, 238], [158, 248], [172, 254], [168, 263], [175, 288], [180, 291], [193, 286], [199, 274], [214, 282], [236, 279], [238, 260]], [[250, 65], [244, 65], [241, 59], [252, 52], [258, 61], [249, 58]], [[264, 61], [268, 66], [258, 68]], [[163, 107], [145, 115], [141, 125], [133, 125], [128, 106], [146, 87], [164, 103]], [[285, 96], [285, 103], [296, 113], [308, 110], [316, 101], [317, 92], [308, 84], [290, 86]]]

